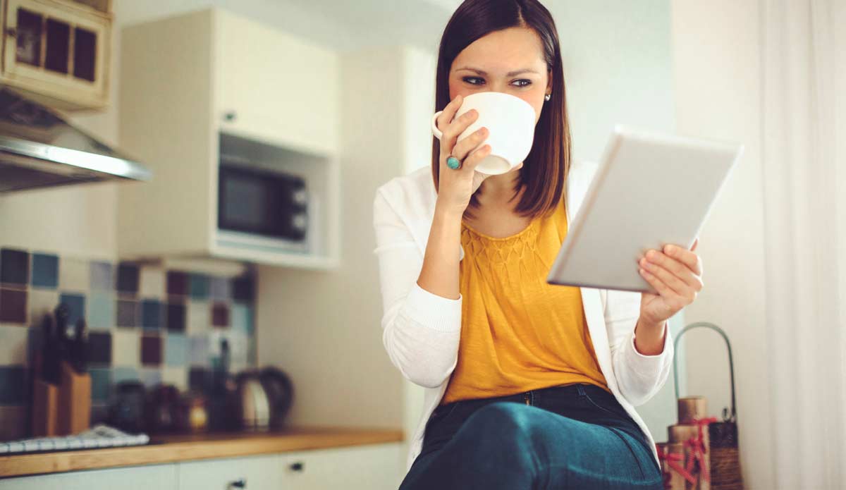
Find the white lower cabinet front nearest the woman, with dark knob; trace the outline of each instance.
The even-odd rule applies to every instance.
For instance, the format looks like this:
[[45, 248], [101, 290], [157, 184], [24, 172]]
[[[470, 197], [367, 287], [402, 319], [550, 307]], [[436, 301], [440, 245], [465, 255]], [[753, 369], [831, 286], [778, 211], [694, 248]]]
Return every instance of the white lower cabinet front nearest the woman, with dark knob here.
[[402, 445], [367, 444], [283, 454], [285, 488], [297, 490], [396, 490]]

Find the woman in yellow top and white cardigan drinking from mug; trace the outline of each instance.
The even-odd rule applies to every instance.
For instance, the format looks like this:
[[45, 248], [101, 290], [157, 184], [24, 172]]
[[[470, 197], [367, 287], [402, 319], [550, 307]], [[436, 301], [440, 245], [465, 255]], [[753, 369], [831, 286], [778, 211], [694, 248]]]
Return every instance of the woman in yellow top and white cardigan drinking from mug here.
[[[453, 116], [478, 91], [535, 108], [533, 147], [511, 172], [475, 172], [484, 128], [456, 144], [477, 114]], [[431, 169], [382, 184], [373, 203], [383, 343], [426, 388], [402, 490], [662, 488], [634, 405], [667, 379], [667, 319], [701, 290], [701, 261], [695, 245], [667, 245], [633, 263], [658, 295], [546, 283], [596, 168], [570, 167], [564, 95], [541, 3], [459, 6], [438, 53]]]

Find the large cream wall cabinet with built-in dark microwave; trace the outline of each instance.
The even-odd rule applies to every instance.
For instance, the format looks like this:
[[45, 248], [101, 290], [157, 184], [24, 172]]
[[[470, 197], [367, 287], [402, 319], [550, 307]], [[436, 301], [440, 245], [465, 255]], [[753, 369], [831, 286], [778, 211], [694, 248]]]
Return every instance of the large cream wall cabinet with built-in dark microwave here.
[[119, 254], [337, 266], [338, 77], [218, 8], [124, 28], [118, 138], [155, 177], [119, 190]]

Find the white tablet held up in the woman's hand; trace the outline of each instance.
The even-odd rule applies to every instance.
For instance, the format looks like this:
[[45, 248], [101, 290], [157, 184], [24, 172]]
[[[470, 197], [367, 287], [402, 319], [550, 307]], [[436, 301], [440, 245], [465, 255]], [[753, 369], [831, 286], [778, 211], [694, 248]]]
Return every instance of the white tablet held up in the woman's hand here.
[[638, 260], [667, 244], [693, 246], [743, 150], [615, 126], [547, 283], [657, 294]]

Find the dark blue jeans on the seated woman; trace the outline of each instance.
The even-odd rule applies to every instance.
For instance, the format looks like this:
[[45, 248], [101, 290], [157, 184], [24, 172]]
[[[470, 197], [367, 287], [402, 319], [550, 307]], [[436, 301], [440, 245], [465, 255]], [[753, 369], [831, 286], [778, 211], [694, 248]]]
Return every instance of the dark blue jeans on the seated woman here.
[[450, 488], [659, 490], [663, 482], [613, 394], [570, 384], [438, 406], [399, 490]]

